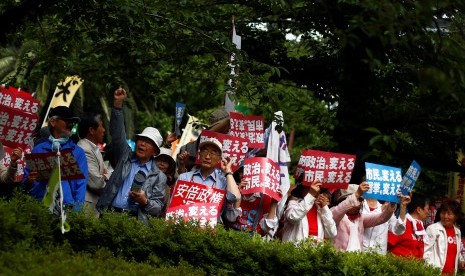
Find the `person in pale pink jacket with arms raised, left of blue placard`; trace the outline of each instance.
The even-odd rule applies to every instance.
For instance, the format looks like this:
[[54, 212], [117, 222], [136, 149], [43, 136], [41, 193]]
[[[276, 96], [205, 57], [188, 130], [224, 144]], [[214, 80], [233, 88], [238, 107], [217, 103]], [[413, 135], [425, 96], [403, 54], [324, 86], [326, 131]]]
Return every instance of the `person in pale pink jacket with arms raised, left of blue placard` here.
[[337, 235], [331, 242], [341, 251], [361, 251], [365, 228], [377, 226], [388, 221], [395, 211], [395, 205], [387, 203], [382, 213], [362, 214], [363, 193], [369, 184], [349, 184], [345, 190], [335, 192], [337, 206], [331, 208], [337, 225]]

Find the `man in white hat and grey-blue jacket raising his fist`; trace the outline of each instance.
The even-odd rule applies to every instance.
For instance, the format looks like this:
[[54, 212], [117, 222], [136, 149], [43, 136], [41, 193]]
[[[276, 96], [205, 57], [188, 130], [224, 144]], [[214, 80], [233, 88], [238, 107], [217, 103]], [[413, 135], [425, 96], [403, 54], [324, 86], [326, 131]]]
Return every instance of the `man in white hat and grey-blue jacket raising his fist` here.
[[160, 153], [163, 138], [158, 129], [146, 127], [136, 135], [135, 151], [126, 143], [123, 104], [124, 89], [113, 95], [110, 120], [113, 155], [118, 160], [97, 203], [100, 214], [110, 209], [137, 216], [148, 224], [147, 215], [160, 216], [166, 196], [166, 175], [158, 168], [155, 156]]

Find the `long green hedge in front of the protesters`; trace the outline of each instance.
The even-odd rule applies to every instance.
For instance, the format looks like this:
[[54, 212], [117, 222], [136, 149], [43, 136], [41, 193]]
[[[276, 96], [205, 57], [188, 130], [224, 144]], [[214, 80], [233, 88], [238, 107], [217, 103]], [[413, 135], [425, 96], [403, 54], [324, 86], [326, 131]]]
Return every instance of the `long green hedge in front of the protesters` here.
[[[263, 242], [221, 226], [203, 230], [194, 224], [152, 219], [151, 226], [146, 227], [124, 214], [106, 213], [101, 219], [84, 213], [68, 214], [71, 231], [62, 235], [55, 216], [19, 193], [10, 200], [0, 200], [0, 212], [0, 272], [5, 274], [35, 269], [44, 272], [38, 274], [92, 274], [97, 266], [98, 274], [121, 275], [149, 271], [163, 275], [439, 273], [418, 261], [374, 253], [340, 253], [330, 245], [314, 248]], [[28, 260], [21, 268], [20, 259]], [[40, 270], [49, 263], [51, 270]]]

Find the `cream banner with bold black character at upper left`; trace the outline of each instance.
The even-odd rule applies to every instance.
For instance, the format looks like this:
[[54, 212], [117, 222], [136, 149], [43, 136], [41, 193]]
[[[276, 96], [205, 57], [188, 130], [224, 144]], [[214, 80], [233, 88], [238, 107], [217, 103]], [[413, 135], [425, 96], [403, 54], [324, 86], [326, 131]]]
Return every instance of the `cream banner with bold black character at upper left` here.
[[53, 93], [52, 100], [50, 101], [50, 105], [48, 106], [47, 113], [45, 114], [45, 120], [42, 127], [47, 126], [47, 117], [51, 108], [57, 106], [70, 106], [74, 95], [76, 95], [76, 91], [79, 87], [81, 87], [83, 82], [84, 80], [79, 76], [68, 76], [64, 81], [58, 83], [55, 92]]

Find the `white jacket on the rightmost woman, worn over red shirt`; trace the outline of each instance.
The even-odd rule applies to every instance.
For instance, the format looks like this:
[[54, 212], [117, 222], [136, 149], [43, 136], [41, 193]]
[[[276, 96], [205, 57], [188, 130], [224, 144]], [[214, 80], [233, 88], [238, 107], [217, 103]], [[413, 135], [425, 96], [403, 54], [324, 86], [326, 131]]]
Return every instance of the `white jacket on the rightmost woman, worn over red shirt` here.
[[[463, 262], [463, 256], [460, 254], [462, 248], [462, 239], [460, 229], [454, 226], [455, 241], [457, 242], [457, 256], [455, 258], [455, 272], [459, 262]], [[425, 252], [423, 258], [427, 264], [442, 269], [446, 263], [447, 254], [447, 234], [446, 229], [442, 226], [441, 222], [436, 222], [426, 228], [428, 235], [428, 242], [425, 243]]]

